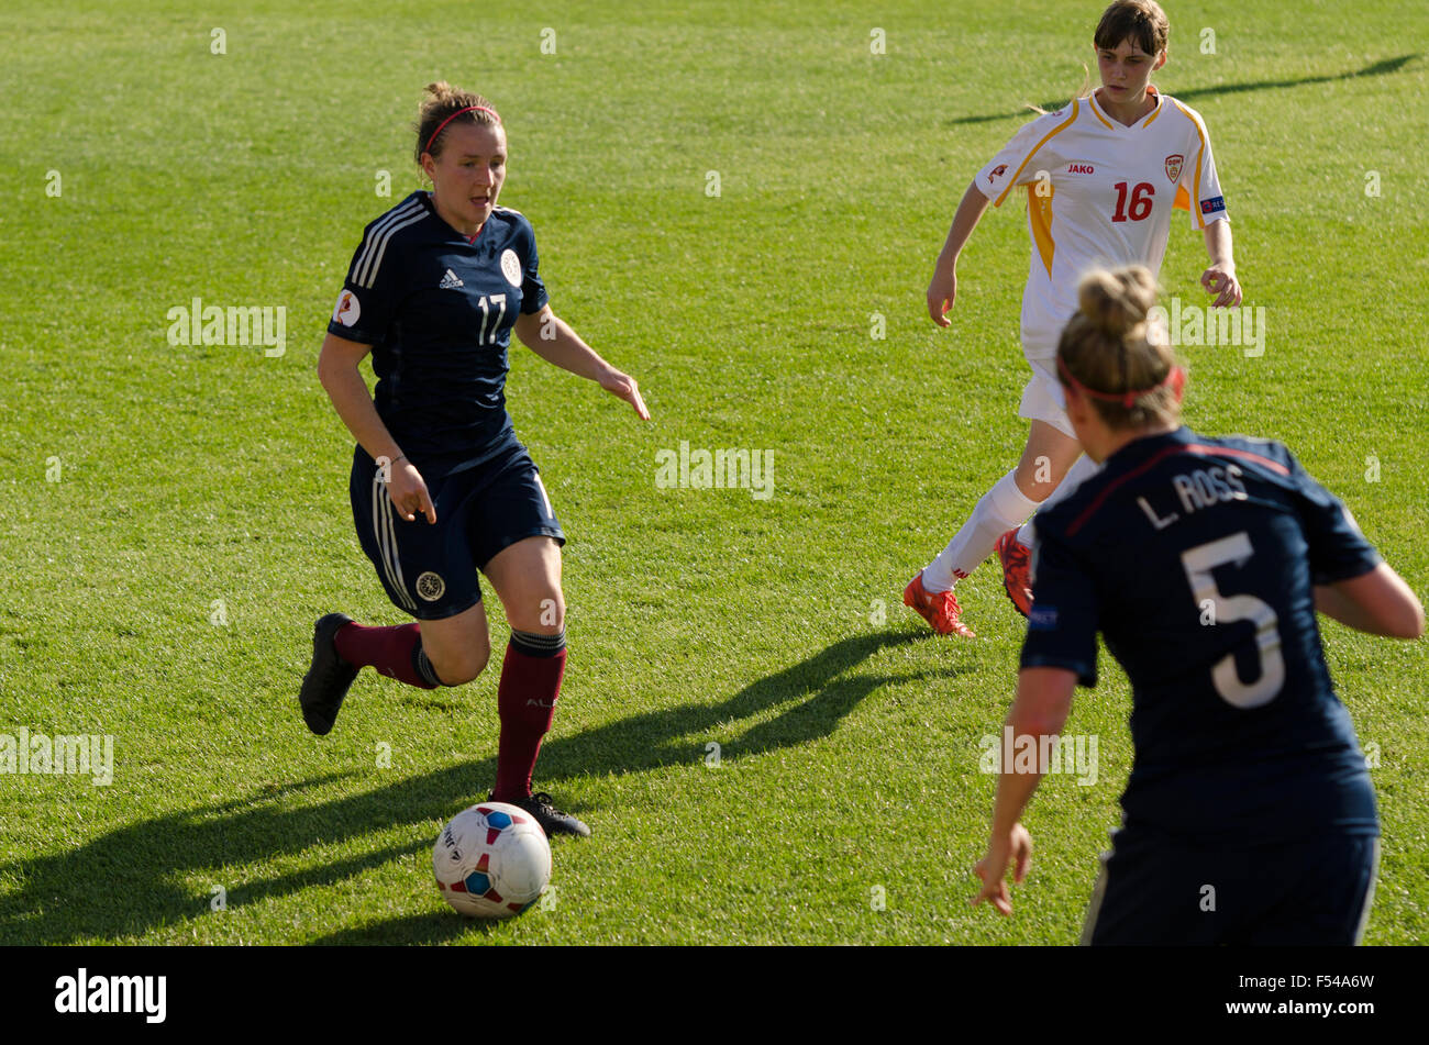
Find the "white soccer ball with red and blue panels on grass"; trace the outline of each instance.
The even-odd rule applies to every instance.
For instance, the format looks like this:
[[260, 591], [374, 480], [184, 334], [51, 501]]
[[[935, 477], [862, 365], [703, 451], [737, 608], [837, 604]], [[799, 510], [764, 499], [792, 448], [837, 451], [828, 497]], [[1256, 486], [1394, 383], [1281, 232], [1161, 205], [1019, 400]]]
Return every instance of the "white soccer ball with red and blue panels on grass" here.
[[510, 918], [550, 881], [550, 844], [529, 812], [506, 802], [463, 809], [432, 848], [437, 889], [467, 918]]

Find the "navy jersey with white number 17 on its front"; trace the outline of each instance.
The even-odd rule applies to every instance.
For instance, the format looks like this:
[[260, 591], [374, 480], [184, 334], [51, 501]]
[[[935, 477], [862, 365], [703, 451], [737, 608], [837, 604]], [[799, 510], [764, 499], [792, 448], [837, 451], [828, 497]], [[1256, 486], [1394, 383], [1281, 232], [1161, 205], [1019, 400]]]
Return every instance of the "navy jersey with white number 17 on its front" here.
[[367, 226], [327, 330], [372, 345], [377, 415], [427, 477], [516, 443], [507, 348], [546, 306], [530, 221], [497, 207], [474, 241], [417, 191]]

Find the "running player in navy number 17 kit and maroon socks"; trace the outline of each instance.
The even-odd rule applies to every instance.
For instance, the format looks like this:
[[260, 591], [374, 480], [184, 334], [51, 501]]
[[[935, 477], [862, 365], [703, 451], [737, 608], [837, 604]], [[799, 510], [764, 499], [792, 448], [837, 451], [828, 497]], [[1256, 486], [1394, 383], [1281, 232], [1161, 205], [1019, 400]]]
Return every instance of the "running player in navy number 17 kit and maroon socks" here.
[[[512, 627], [492, 799], [526, 808], [547, 835], [589, 835], [550, 795], [530, 789], [566, 667], [564, 535], [506, 413], [512, 331], [642, 418], [650, 414], [634, 380], [552, 313], [530, 223], [496, 206], [506, 180], [496, 110], [446, 83], [427, 93], [416, 158], [432, 191], [367, 226], [317, 363], [357, 440], [350, 497], [363, 551], [392, 602], [417, 622], [320, 618], [299, 701], [323, 735], [363, 667], [426, 690], [476, 678], [490, 655], [480, 570]], [[376, 401], [357, 370], [369, 351]]]

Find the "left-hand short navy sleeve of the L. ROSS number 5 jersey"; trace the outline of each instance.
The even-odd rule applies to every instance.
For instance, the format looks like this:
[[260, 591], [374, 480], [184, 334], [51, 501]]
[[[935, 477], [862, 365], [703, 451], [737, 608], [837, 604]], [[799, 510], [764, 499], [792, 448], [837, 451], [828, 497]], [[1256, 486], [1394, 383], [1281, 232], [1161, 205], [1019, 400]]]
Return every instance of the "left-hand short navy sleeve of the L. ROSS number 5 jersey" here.
[[1023, 668], [1066, 668], [1096, 685], [1097, 604], [1092, 571], [1050, 528], [1035, 525], [1032, 612], [1022, 642]]

